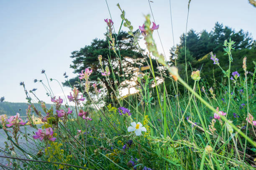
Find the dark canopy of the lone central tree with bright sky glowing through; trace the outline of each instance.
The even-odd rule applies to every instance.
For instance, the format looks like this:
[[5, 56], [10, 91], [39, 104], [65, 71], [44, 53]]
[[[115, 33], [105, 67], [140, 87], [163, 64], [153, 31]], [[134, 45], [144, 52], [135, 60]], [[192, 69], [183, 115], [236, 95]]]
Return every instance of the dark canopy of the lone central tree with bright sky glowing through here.
[[[85, 68], [92, 69], [90, 83], [96, 83], [98, 89], [103, 91], [105, 89], [110, 93], [112, 91], [111, 87], [115, 87], [115, 83], [118, 88], [128, 86], [125, 80], [132, 79], [134, 68], [147, 64], [143, 53], [133, 45], [133, 37], [128, 35], [127, 32], [120, 31], [118, 35], [114, 34], [113, 36], [115, 37], [115, 42], [118, 42], [116, 43], [117, 54], [109, 47], [107, 34], [105, 35], [106, 38], [104, 40], [95, 38], [92, 40], [91, 45], [85, 45], [80, 50], [73, 51], [70, 56], [73, 59], [70, 67], [74, 69], [74, 73], [79, 73]], [[106, 66], [110, 68], [110, 84], [108, 84], [106, 77], [101, 74], [104, 70], [99, 64], [98, 55], [102, 55], [103, 69]], [[153, 63], [156, 65], [155, 60]], [[78, 81], [78, 77], [74, 77], [69, 82], [64, 82], [63, 85], [80, 88]], [[100, 87], [99, 84], [102, 86]], [[90, 92], [92, 90], [91, 86]]]

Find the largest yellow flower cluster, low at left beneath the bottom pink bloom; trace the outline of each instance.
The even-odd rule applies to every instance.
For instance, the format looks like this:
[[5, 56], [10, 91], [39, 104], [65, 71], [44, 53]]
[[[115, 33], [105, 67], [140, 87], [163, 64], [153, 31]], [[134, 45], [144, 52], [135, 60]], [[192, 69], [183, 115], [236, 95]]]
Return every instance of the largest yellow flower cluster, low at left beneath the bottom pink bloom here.
[[[64, 150], [61, 149], [62, 146], [61, 143], [50, 143], [50, 146], [44, 150], [46, 157], [48, 157], [48, 162], [68, 163], [72, 159], [72, 155], [64, 155]], [[59, 169], [64, 169], [64, 165], [54, 164], [54, 166], [59, 166]]]

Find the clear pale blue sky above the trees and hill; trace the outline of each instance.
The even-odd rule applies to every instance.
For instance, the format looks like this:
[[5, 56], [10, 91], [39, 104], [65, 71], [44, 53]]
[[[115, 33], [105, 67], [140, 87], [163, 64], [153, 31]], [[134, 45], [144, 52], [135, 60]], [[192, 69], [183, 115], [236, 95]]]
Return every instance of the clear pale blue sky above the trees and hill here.
[[[151, 7], [166, 57], [173, 45], [169, 0], [153, 0]], [[120, 27], [120, 10], [133, 28], [144, 22], [151, 14], [147, 0], [108, 0], [115, 30]], [[174, 42], [185, 32], [188, 0], [171, 0]], [[210, 31], [215, 22], [223, 23], [235, 30], [251, 32], [256, 39], [256, 8], [248, 0], [192, 0], [190, 3], [188, 30]], [[36, 94], [46, 103], [50, 98], [40, 83], [33, 80], [48, 78], [64, 82], [63, 73], [74, 77], [69, 65], [71, 52], [90, 45], [94, 38], [104, 38], [106, 24], [110, 18], [105, 0], [2, 0], [0, 1], [0, 97], [9, 102], [26, 102], [24, 81], [28, 90], [37, 88]], [[124, 28], [125, 29], [125, 28]], [[159, 37], [154, 33], [161, 52]], [[54, 95], [62, 95], [56, 81], [50, 82]], [[70, 88], [64, 87], [66, 95]]]

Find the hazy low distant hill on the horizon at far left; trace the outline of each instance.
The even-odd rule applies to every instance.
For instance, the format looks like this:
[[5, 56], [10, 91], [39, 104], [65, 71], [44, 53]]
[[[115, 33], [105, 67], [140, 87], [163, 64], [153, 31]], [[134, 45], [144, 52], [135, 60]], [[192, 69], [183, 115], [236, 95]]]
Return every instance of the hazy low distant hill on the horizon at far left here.
[[[39, 103], [35, 103], [34, 105], [38, 111], [44, 112]], [[46, 104], [46, 108], [50, 108], [51, 106], [51, 104]], [[18, 112], [20, 116], [26, 116], [26, 109], [28, 109], [28, 103], [0, 102], [0, 115], [12, 116]]]

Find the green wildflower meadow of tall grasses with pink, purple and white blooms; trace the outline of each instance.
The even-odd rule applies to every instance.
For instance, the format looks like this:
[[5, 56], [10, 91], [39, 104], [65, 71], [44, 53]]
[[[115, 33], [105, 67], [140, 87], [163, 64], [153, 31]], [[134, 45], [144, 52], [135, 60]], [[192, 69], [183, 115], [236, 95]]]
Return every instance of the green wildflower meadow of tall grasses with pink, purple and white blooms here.
[[[243, 56], [238, 61], [242, 71], [231, 70], [236, 42], [228, 39], [221, 44], [225, 61], [213, 52], [207, 58], [211, 67], [222, 70], [221, 75], [215, 75], [222, 77], [221, 81], [212, 85], [202, 81], [202, 72], [191, 69], [186, 58], [185, 74], [180, 75], [181, 70], [168, 64], [157, 50], [153, 32], [159, 25], [152, 22], [150, 15], [145, 15], [140, 32], [134, 34], [131, 21], [118, 7], [123, 20], [120, 29], [123, 26], [129, 30], [139, 51], [143, 51], [139, 36], [146, 44], [147, 55], [143, 57], [149, 69], [138, 77], [132, 75], [132, 70], [128, 73], [136, 79], [137, 92], [120, 95], [117, 82], [120, 77], [125, 78], [125, 64], [121, 62], [113, 21], [105, 19], [108, 62], [103, 63], [98, 54], [97, 63], [111, 93], [104, 91], [106, 87], [100, 80], [91, 82], [94, 70], [90, 67], [77, 75], [78, 87], [71, 86], [63, 99], [53, 95], [47, 76], [43, 85], [51, 101], [41, 101], [21, 82], [28, 100], [27, 117], [22, 119], [18, 113], [11, 117], [0, 115], [1, 127], [8, 136], [5, 148], [0, 148], [0, 157], [6, 158], [8, 164], [0, 166], [6, 170], [256, 169], [256, 62], [249, 72]], [[119, 75], [113, 71], [111, 55], [120, 57]], [[153, 59], [161, 69], [156, 71]], [[224, 70], [223, 65], [228, 69]], [[46, 75], [47, 70], [41, 73]], [[168, 85], [165, 77], [171, 80]], [[30, 95], [43, 111], [38, 111], [38, 104], [35, 106]], [[68, 101], [72, 104], [68, 105]], [[54, 106], [46, 107], [46, 102]], [[35, 124], [33, 114], [42, 124]], [[23, 125], [31, 126], [33, 132], [20, 133]], [[21, 147], [20, 138], [35, 153]]]

